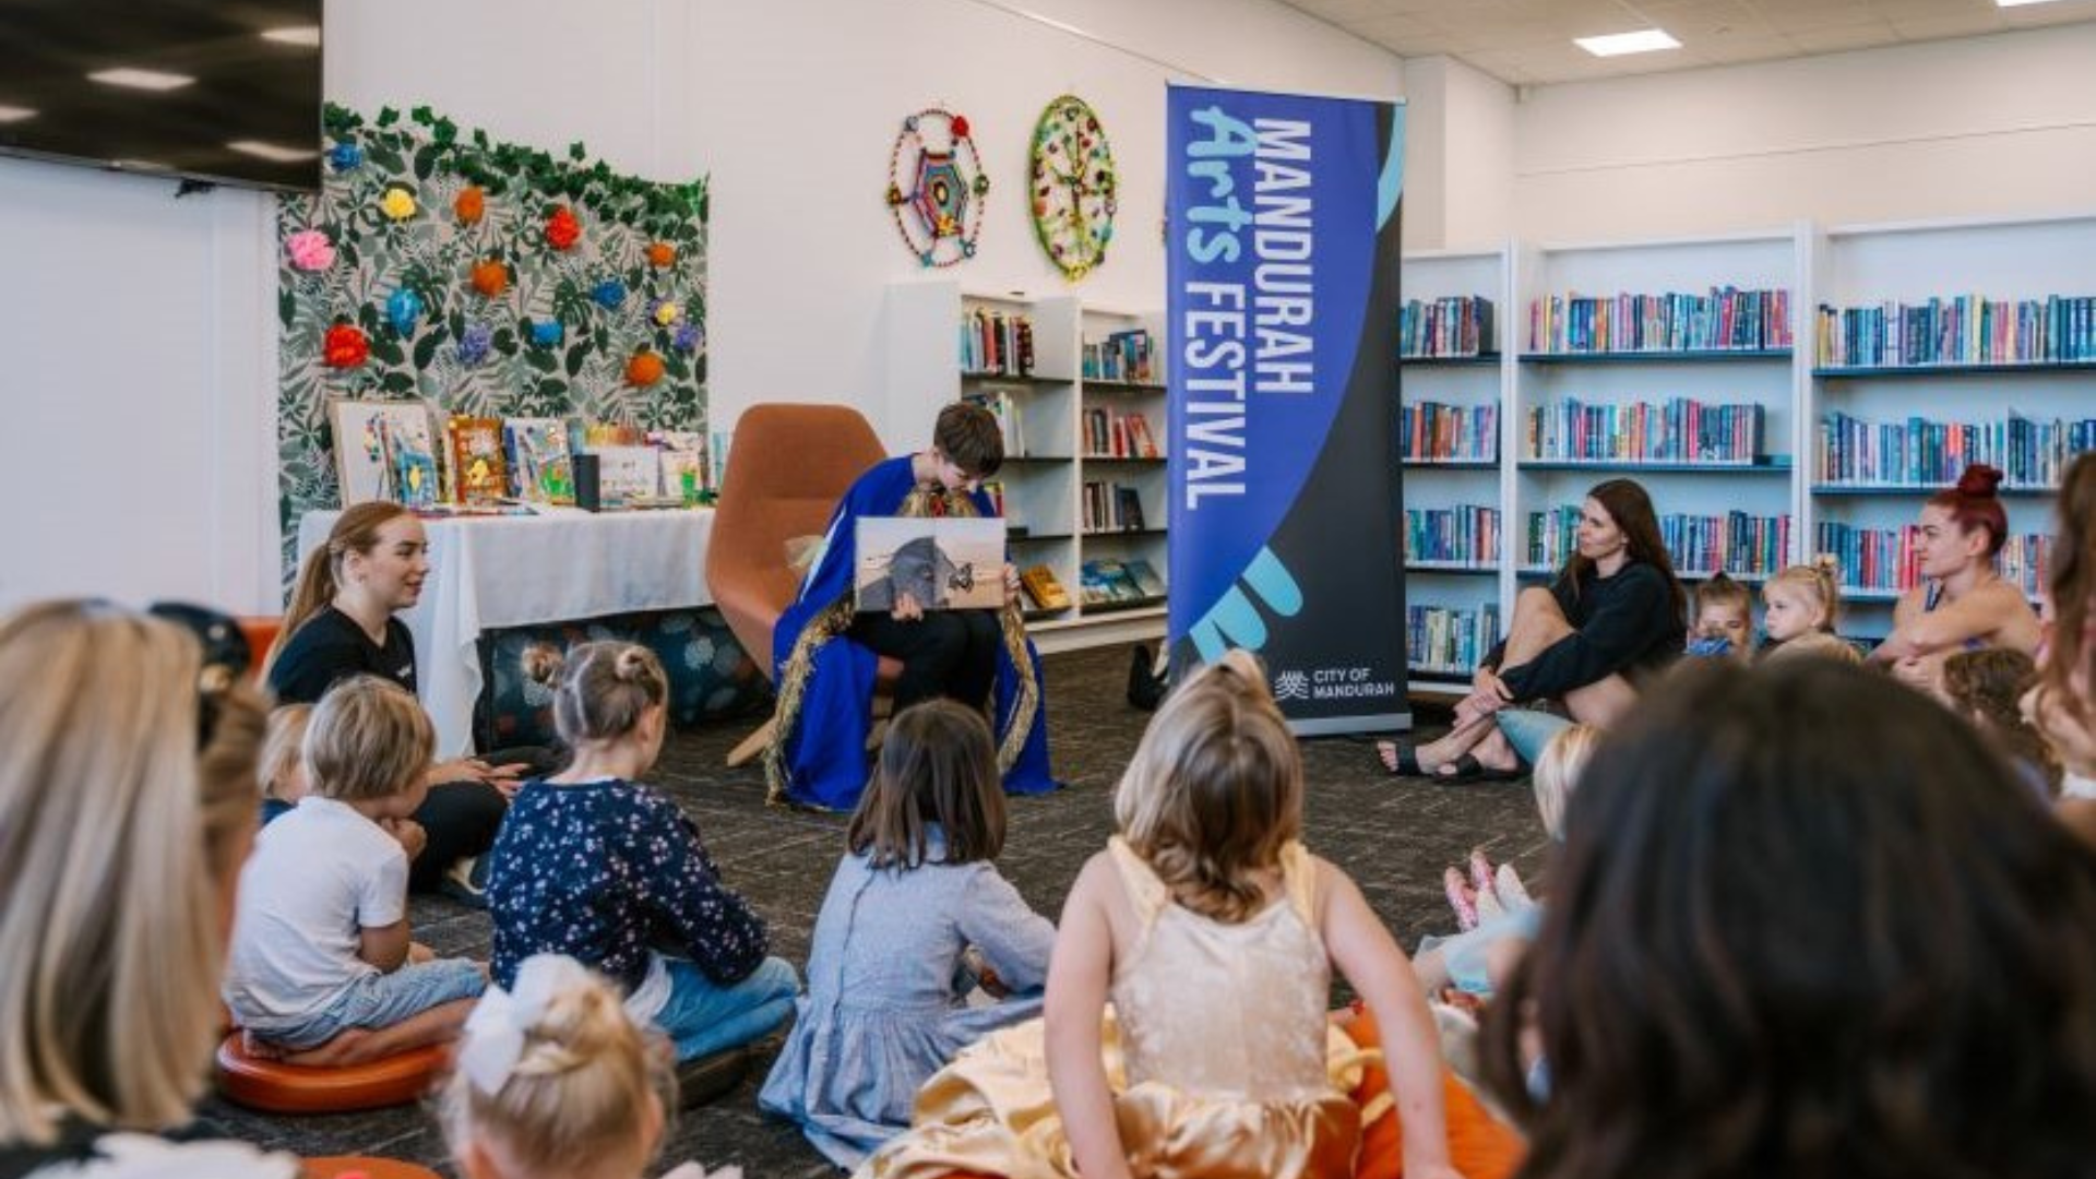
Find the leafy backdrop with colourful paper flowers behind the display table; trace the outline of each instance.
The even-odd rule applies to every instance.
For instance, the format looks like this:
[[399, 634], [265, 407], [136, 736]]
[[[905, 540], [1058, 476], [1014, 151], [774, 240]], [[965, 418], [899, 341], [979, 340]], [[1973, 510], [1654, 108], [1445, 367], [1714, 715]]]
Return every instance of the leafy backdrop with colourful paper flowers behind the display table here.
[[277, 285], [285, 569], [342, 503], [327, 403], [706, 428], [706, 180], [658, 185], [329, 105], [319, 197], [285, 197]]

